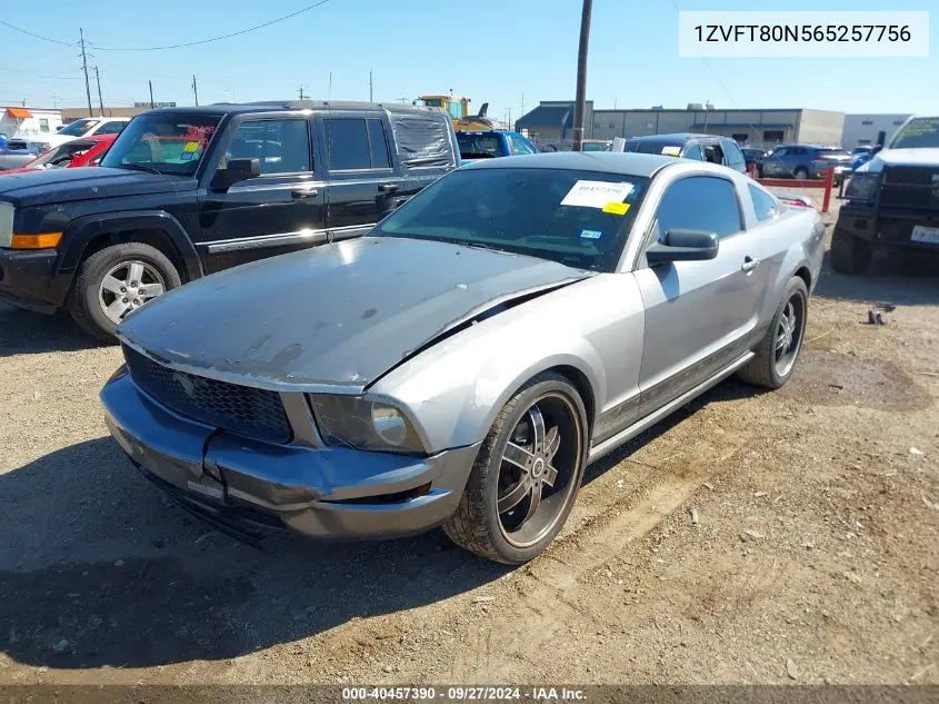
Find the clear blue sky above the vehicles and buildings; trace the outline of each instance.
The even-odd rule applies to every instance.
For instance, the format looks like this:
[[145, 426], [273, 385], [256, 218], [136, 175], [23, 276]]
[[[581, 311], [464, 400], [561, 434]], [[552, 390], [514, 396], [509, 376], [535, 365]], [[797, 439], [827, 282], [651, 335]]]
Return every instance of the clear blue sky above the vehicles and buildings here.
[[[84, 29], [101, 73], [106, 106], [154, 99], [200, 102], [296, 98], [300, 86], [326, 98], [398, 100], [446, 92], [490, 102], [490, 115], [518, 118], [539, 100], [572, 99], [580, 0], [330, 0], [297, 18], [199, 47], [107, 51], [194, 41], [238, 31], [312, 0], [147, 0], [28, 2], [0, 19], [44, 37], [77, 41]], [[2, 3], [8, 4], [8, 3]], [[933, 10], [928, 59], [678, 58], [681, 10]], [[889, 7], [888, 7], [889, 6]], [[899, 7], [895, 7], [899, 6]], [[588, 98], [597, 108], [806, 107], [846, 112], [939, 112], [939, 4], [936, 0], [595, 0]], [[97, 47], [99, 48], [96, 48]], [[74, 47], [0, 26], [0, 105], [84, 105]], [[728, 95], [729, 93], [729, 95]], [[92, 82], [97, 105], [97, 88]]]

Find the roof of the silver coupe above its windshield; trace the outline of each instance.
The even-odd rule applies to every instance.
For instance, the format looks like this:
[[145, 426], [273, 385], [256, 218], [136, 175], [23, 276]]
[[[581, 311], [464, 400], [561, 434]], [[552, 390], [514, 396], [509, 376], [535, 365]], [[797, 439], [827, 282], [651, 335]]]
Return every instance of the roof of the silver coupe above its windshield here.
[[617, 151], [552, 151], [511, 159], [483, 159], [468, 163], [462, 169], [569, 169], [573, 171], [606, 171], [621, 176], [651, 178], [665, 167], [677, 163], [675, 157], [652, 153], [623, 153]]

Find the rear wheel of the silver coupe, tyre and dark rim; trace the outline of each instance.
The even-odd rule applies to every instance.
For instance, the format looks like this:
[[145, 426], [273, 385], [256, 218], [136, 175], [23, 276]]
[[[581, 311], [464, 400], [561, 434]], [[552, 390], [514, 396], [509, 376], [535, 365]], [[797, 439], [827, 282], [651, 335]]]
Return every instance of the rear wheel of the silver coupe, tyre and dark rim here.
[[757, 347], [757, 356], [738, 376], [756, 386], [777, 389], [785, 385], [802, 349], [809, 313], [809, 289], [798, 276], [789, 279], [767, 334]]

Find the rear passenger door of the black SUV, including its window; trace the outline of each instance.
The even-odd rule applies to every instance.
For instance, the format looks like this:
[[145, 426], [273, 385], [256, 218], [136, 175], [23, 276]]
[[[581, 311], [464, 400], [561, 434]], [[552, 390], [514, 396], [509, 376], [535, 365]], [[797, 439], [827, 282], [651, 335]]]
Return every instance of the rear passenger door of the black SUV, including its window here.
[[401, 178], [389, 150], [380, 112], [330, 113], [321, 118], [327, 161], [326, 225], [331, 240], [368, 232], [393, 209]]

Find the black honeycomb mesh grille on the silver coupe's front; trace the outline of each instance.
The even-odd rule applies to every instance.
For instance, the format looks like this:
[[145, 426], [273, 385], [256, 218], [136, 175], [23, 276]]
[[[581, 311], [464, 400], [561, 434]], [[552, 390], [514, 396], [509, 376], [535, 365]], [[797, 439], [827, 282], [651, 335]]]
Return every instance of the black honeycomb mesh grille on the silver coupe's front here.
[[177, 371], [127, 346], [123, 354], [133, 383], [180, 415], [268, 443], [290, 442], [277, 391]]

